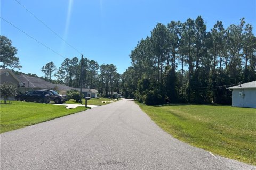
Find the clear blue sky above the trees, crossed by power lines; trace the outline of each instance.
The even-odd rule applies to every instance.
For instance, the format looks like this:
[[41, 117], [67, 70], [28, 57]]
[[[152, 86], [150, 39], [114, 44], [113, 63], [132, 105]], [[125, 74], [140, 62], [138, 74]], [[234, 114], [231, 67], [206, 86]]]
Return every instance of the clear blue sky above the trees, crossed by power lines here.
[[[170, 21], [185, 22], [201, 15], [207, 30], [217, 20], [225, 28], [238, 24], [245, 17], [246, 23], [256, 29], [255, 0], [17, 0], [30, 12], [57, 32], [84, 57], [100, 65], [114, 64], [118, 73], [131, 65], [130, 53], [138, 41], [150, 36], [157, 22], [167, 25]], [[81, 55], [38, 22], [15, 0], [1, 0], [1, 17], [25, 31], [65, 58]], [[48, 62], [60, 67], [65, 58], [53, 53], [24, 33], [1, 19], [1, 35], [12, 40], [18, 49], [24, 73], [43, 75], [41, 68]]]

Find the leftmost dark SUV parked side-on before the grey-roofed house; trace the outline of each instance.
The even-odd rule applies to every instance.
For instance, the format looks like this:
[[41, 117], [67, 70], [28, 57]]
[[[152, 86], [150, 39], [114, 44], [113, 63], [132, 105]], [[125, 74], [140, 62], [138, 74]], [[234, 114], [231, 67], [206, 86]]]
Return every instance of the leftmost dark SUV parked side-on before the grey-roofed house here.
[[37, 101], [38, 103], [49, 103], [52, 100], [52, 92], [46, 90], [32, 90], [25, 94], [15, 96], [17, 101]]

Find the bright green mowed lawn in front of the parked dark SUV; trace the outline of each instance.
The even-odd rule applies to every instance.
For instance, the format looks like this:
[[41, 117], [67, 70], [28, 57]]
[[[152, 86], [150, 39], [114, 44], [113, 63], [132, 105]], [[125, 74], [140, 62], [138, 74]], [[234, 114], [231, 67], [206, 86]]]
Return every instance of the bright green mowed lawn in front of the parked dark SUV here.
[[23, 128], [54, 118], [84, 111], [88, 108], [66, 109], [66, 106], [12, 101], [0, 105], [0, 133]]

